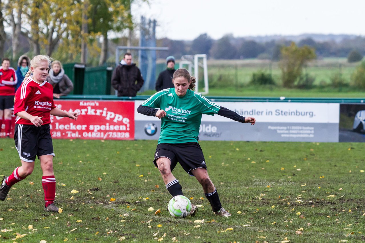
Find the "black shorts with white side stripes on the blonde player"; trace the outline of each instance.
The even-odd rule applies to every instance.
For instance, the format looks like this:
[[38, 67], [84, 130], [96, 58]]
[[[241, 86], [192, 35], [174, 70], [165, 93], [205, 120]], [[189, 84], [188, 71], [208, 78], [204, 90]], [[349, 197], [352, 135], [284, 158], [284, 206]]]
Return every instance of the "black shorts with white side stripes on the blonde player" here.
[[15, 124], [15, 147], [21, 160], [35, 161], [36, 156], [53, 155], [49, 124], [42, 126]]

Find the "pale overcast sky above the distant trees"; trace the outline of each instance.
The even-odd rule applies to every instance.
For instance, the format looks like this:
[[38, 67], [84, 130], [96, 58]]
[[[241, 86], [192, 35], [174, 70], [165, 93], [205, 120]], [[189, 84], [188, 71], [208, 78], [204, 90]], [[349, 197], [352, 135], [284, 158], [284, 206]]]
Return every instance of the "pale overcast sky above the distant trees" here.
[[136, 0], [140, 16], [157, 20], [156, 37], [193, 40], [299, 34], [365, 36], [365, 0]]

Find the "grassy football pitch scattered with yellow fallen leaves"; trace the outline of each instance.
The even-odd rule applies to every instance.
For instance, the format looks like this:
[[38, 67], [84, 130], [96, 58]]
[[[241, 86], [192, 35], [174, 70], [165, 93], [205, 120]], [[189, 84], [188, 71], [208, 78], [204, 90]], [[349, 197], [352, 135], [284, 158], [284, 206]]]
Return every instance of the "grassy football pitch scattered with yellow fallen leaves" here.
[[[54, 140], [58, 207], [43, 211], [39, 161], [0, 201], [2, 242], [363, 242], [363, 143], [201, 141], [223, 207], [177, 165], [185, 196], [201, 205], [174, 219], [152, 163], [157, 141]], [[194, 154], [191, 154], [194, 156]], [[0, 174], [20, 166], [0, 140]], [[74, 193], [73, 193], [74, 192]], [[160, 211], [160, 212], [159, 212]]]

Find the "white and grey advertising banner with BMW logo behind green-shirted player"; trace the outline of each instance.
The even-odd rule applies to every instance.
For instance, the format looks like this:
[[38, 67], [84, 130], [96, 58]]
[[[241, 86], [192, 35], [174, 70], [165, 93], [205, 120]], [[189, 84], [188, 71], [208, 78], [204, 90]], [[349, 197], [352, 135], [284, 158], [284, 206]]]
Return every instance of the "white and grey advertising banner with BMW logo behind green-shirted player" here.
[[[157, 140], [161, 121], [137, 113], [135, 139]], [[338, 103], [216, 102], [256, 124], [242, 124], [220, 115], [203, 115], [199, 140], [338, 142]]]

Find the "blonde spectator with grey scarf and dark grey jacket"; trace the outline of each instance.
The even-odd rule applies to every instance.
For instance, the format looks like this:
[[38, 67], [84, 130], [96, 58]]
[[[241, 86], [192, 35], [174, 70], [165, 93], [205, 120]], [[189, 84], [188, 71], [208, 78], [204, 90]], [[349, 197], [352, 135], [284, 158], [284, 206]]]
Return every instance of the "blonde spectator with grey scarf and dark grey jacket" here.
[[59, 99], [68, 95], [73, 90], [73, 83], [65, 74], [62, 63], [58, 60], [52, 62], [46, 81], [53, 86], [53, 97]]

